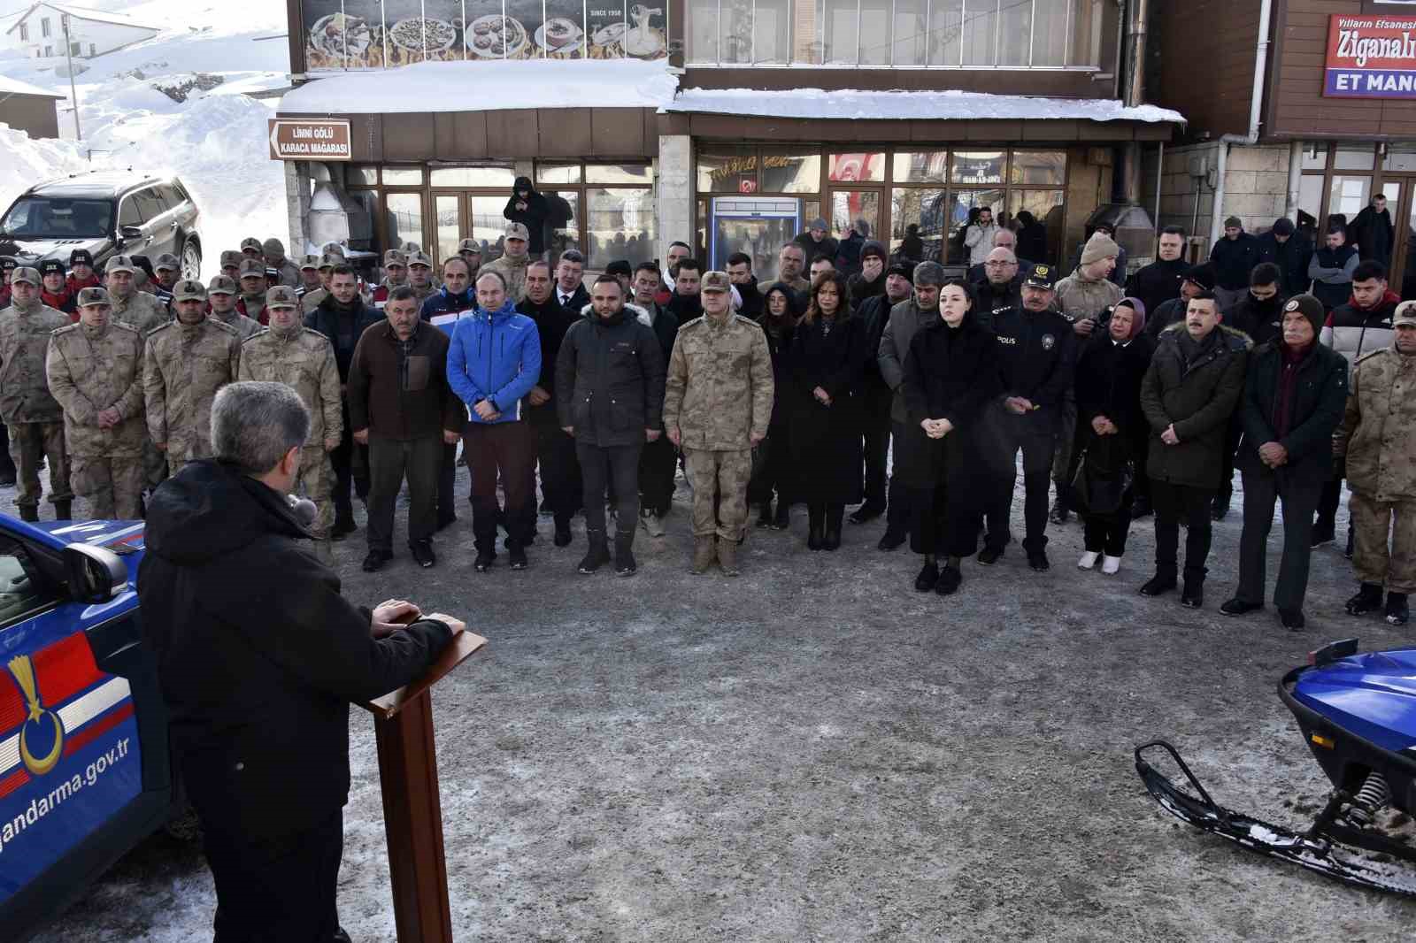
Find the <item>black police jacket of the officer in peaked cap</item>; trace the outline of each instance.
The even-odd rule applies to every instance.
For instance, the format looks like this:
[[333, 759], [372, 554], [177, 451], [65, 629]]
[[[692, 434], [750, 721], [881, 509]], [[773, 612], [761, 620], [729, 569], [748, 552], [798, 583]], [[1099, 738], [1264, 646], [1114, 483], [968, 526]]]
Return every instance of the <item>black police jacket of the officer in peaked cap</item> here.
[[994, 316], [998, 337], [998, 378], [1004, 396], [1025, 396], [1039, 419], [1056, 422], [1062, 398], [1072, 388], [1072, 326], [1056, 312], [1039, 314], [1020, 304]]

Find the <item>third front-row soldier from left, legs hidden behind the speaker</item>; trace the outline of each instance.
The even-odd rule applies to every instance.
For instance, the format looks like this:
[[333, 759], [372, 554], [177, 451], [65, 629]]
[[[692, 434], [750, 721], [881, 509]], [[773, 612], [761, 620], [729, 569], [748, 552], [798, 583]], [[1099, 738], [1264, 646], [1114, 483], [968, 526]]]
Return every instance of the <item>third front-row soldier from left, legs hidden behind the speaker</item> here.
[[207, 317], [207, 289], [183, 279], [173, 293], [177, 320], [147, 337], [143, 399], [147, 433], [167, 469], [177, 474], [194, 459], [211, 457], [211, 401], [236, 379], [241, 337], [236, 328]]

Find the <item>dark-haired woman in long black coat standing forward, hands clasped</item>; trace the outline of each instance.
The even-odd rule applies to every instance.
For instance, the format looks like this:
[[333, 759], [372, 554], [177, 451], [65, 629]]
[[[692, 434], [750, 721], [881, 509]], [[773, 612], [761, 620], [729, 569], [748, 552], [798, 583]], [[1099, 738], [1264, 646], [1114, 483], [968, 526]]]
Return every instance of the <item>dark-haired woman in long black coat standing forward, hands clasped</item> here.
[[[910, 549], [925, 565], [915, 589], [940, 596], [959, 589], [964, 556], [977, 549], [983, 517], [977, 480], [984, 467], [978, 422], [1003, 395], [998, 340], [973, 314], [973, 293], [961, 280], [939, 289], [939, 320], [915, 331], [905, 354], [906, 436], [895, 442], [895, 469], [909, 493]], [[947, 559], [943, 571], [936, 554]]]

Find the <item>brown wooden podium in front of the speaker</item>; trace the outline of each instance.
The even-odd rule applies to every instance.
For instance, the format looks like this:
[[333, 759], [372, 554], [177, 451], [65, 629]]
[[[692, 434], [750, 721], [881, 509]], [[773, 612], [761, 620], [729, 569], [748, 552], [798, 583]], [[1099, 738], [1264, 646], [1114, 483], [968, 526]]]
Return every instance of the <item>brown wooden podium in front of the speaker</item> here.
[[378, 777], [384, 791], [384, 833], [394, 889], [394, 926], [399, 943], [452, 943], [447, 862], [438, 797], [438, 750], [433, 745], [432, 687], [487, 644], [452, 616], [453, 639], [428, 674], [381, 698], [361, 704], [374, 715]]

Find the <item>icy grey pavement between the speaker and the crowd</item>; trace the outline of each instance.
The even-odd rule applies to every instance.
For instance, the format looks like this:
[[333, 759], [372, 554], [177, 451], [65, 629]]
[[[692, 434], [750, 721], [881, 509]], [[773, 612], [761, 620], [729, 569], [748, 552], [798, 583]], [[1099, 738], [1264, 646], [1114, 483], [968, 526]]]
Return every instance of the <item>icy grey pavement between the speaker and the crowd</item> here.
[[[789, 532], [752, 531], [741, 578], [691, 576], [685, 497], [667, 537], [639, 535], [632, 579], [573, 572], [581, 521], [565, 549], [541, 521], [525, 572], [503, 555], [473, 573], [464, 501], [436, 569], [399, 548], [371, 578], [362, 531], [336, 545], [351, 599], [406, 595], [490, 640], [435, 695], [457, 939], [1410, 937], [1416, 905], [1185, 828], [1131, 766], [1164, 735], [1216, 801], [1311, 818], [1325, 782], [1274, 682], [1334, 637], [1409, 639], [1342, 613], [1355, 585], [1340, 548], [1314, 555], [1308, 630], [1289, 633], [1272, 606], [1218, 613], [1239, 494], [1198, 612], [1136, 595], [1150, 518], [1117, 576], [1078, 572], [1073, 518], [1049, 527], [1051, 572], [1014, 544], [993, 568], [966, 562], [940, 599], [913, 592], [916, 556], [875, 549], [881, 522], [809, 552], [801, 508]], [[391, 940], [360, 711], [351, 739], [340, 910], [355, 940]], [[159, 835], [38, 939], [201, 940], [212, 906], [198, 850]]]

